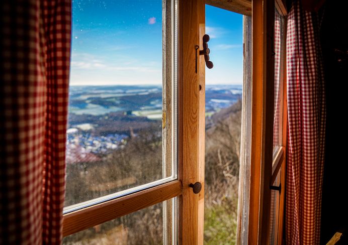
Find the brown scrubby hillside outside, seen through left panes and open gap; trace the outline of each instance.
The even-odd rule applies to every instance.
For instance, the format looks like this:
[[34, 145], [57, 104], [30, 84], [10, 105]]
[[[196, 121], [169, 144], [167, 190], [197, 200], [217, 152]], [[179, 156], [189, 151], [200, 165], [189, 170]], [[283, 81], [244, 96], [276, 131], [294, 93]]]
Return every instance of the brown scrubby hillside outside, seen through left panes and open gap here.
[[[241, 102], [207, 119], [213, 124], [206, 131], [205, 241], [230, 244], [235, 237], [235, 230], [231, 229], [235, 229], [237, 212]], [[100, 162], [67, 166], [65, 206], [160, 179], [161, 127], [140, 131], [123, 147], [100, 157], [103, 159]], [[225, 227], [226, 235], [217, 224]], [[64, 244], [161, 243], [161, 203], [64, 238]]]

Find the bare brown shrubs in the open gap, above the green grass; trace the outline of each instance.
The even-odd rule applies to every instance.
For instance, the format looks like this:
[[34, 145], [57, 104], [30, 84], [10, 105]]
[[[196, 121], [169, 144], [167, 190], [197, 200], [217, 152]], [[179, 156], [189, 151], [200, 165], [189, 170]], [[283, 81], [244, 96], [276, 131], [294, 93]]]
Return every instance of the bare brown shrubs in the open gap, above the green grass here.
[[241, 102], [212, 116], [214, 126], [206, 131], [206, 205], [219, 204], [238, 193]]

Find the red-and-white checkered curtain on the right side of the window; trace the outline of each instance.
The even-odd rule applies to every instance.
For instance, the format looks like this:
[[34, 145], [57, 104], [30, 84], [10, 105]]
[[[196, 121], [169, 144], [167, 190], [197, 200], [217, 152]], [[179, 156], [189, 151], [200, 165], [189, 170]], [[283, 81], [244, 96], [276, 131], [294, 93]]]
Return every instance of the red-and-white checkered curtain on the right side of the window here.
[[288, 15], [287, 244], [319, 244], [325, 89], [317, 14], [294, 1]]

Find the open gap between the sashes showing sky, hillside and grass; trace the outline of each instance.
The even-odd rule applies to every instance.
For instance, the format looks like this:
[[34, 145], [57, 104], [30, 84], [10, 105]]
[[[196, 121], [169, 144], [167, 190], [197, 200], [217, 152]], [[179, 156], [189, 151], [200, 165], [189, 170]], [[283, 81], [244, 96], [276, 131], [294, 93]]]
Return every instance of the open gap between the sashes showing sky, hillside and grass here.
[[235, 244], [243, 16], [206, 5], [206, 26], [214, 68], [206, 69], [204, 244]]

